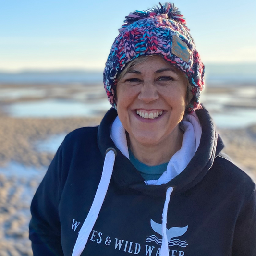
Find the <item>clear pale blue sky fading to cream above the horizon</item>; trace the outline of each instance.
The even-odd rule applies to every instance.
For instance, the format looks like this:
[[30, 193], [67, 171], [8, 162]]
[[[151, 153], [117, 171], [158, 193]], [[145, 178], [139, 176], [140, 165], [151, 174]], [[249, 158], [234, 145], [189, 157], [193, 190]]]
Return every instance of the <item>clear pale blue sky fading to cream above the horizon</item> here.
[[[256, 62], [255, 0], [173, 0], [206, 63]], [[124, 18], [156, 0], [0, 0], [0, 71], [103, 70]], [[164, 3], [164, 2], [162, 2]]]

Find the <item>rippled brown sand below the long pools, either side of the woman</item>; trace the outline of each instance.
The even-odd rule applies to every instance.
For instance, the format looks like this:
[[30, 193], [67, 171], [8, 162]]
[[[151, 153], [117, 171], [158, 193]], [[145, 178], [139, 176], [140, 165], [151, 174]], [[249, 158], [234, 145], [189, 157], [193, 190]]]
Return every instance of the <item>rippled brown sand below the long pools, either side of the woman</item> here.
[[[0, 116], [0, 256], [32, 255], [28, 240], [30, 202], [54, 156], [53, 152], [39, 152], [37, 142], [79, 127], [95, 126], [100, 120]], [[256, 180], [256, 126], [219, 130], [219, 133], [226, 144], [224, 152]], [[16, 165], [24, 166], [27, 173], [24, 175], [17, 168], [11, 174]]]

